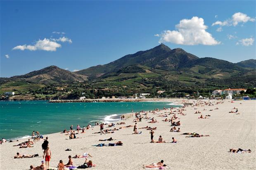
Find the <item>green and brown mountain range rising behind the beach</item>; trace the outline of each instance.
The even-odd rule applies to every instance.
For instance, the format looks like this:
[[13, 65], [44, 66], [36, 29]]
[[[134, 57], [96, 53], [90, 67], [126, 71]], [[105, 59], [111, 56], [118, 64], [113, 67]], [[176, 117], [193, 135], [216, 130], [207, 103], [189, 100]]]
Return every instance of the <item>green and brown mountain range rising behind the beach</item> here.
[[[76, 72], [50, 66], [21, 76], [0, 78], [0, 91], [10, 81], [33, 84], [90, 83], [94, 88], [126, 86], [136, 89], [193, 87], [255, 87], [256, 60], [232, 63], [211, 57], [199, 58], [181, 48], [160, 44], [125, 55], [104, 65]], [[239, 79], [239, 81], [237, 81]], [[3, 91], [3, 90], [2, 90]]]

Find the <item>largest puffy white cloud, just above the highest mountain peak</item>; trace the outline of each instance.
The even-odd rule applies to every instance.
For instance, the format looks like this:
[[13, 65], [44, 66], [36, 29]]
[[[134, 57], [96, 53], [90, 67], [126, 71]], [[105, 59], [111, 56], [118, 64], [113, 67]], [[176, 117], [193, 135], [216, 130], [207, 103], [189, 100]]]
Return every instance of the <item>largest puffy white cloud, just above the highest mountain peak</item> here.
[[197, 16], [191, 19], [183, 19], [175, 25], [177, 30], [165, 30], [161, 33], [160, 43], [171, 42], [183, 45], [217, 45], [216, 41], [209, 32], [206, 32], [207, 26], [204, 25], [204, 19]]

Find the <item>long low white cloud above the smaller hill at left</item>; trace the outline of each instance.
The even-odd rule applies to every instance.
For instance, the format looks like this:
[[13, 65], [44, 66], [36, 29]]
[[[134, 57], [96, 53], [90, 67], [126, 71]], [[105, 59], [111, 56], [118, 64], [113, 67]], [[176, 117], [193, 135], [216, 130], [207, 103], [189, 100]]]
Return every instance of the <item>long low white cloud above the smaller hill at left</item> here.
[[60, 48], [61, 44], [58, 44], [55, 41], [51, 41], [50, 39], [39, 39], [36, 41], [35, 45], [19, 45], [14, 48], [13, 50], [30, 50], [30, 51], [36, 51], [36, 50], [44, 50], [44, 51], [56, 51], [57, 48]]

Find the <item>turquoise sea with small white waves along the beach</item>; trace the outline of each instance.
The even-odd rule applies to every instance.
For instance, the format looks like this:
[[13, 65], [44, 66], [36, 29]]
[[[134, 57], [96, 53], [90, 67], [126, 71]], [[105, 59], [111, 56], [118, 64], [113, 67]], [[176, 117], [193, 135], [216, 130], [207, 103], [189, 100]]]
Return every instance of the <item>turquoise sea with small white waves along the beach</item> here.
[[[49, 134], [74, 129], [95, 121], [113, 122], [131, 110], [169, 108], [170, 102], [47, 103], [47, 101], [0, 101], [0, 138], [31, 136], [32, 131]], [[174, 105], [171, 105], [175, 107]], [[177, 106], [178, 107], [178, 106]]]

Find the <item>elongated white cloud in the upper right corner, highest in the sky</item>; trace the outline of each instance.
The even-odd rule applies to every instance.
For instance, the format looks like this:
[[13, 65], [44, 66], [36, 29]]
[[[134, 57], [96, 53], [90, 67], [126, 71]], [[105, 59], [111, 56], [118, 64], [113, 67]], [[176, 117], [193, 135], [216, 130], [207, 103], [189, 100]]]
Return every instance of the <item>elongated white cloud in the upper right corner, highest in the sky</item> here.
[[[216, 21], [211, 26], [214, 26], [214, 25], [220, 25], [220, 26], [232, 26], [233, 25], [233, 26], [236, 26], [239, 23], [247, 23], [248, 21], [254, 22], [255, 19], [247, 16], [247, 14], [237, 12], [237, 13], [232, 15], [231, 19], [227, 19], [225, 21]], [[218, 29], [216, 31], [218, 31]]]

